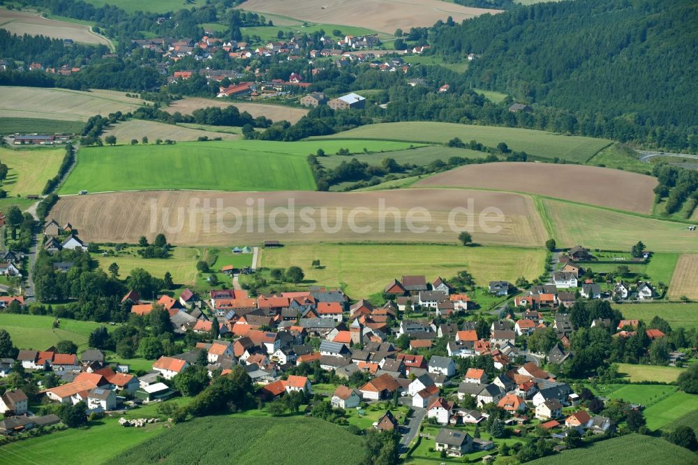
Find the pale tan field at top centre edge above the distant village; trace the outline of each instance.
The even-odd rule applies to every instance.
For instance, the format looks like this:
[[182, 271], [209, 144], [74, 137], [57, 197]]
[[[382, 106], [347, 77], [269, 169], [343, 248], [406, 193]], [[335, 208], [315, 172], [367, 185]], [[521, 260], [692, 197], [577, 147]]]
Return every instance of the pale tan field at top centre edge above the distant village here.
[[302, 2], [279, 0], [248, 0], [239, 8], [262, 13], [276, 13], [312, 22], [346, 24], [392, 34], [396, 28], [431, 27], [438, 20], [452, 17], [455, 22], [468, 20], [485, 10], [447, 3], [439, 0], [306, 0]]

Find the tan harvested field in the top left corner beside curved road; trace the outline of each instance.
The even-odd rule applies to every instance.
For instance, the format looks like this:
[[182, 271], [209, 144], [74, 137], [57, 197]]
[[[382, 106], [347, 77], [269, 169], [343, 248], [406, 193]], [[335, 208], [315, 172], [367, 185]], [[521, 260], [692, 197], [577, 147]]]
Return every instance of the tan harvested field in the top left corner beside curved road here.
[[16, 10], [0, 10], [0, 27], [13, 34], [31, 34], [51, 38], [69, 38], [75, 42], [110, 45], [109, 40], [90, 31], [89, 26], [49, 20], [38, 13], [28, 13]]

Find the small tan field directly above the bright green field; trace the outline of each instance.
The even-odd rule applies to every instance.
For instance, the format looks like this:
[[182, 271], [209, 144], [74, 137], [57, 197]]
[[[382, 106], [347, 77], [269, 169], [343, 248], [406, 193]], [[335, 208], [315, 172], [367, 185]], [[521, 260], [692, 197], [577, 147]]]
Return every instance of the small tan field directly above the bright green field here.
[[115, 135], [117, 144], [129, 144], [131, 139], [136, 139], [140, 143], [141, 138], [147, 136], [152, 144], [157, 139], [161, 140], [197, 140], [200, 137], [209, 139], [222, 138], [224, 140], [237, 139], [237, 135], [230, 133], [214, 133], [211, 131], [202, 131], [200, 129], [186, 128], [178, 124], [165, 124], [158, 121], [143, 121], [141, 119], [130, 119], [121, 123], [114, 124], [112, 128], [105, 131], [103, 137], [107, 135]]

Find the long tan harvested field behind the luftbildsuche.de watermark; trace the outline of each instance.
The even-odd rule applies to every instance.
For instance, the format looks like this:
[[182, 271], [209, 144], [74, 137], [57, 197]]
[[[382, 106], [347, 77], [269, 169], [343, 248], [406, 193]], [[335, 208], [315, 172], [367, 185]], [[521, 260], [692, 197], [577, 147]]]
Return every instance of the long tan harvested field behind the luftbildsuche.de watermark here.
[[[289, 204], [292, 213], [281, 211]], [[212, 212], [190, 210], [207, 205]], [[454, 228], [470, 230], [477, 243], [539, 246], [547, 239], [530, 198], [465, 190], [104, 193], [61, 198], [51, 216], [59, 223], [70, 221], [82, 239], [94, 242], [133, 243], [141, 235], [152, 239], [165, 232], [168, 241], [177, 245], [259, 244], [265, 239], [452, 244], [459, 229], [452, 230], [448, 217], [458, 207], [470, 207], [473, 214], [458, 212], [452, 221]], [[495, 216], [492, 207], [503, 216]], [[418, 232], [415, 227], [424, 230]], [[501, 229], [494, 232], [497, 228]]]

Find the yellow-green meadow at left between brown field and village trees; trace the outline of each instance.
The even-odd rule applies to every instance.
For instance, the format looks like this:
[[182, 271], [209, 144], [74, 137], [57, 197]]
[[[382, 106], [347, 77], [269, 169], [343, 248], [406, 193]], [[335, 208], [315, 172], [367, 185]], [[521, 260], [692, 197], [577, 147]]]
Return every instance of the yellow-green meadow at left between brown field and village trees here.
[[[103, 257], [101, 253], [93, 253], [92, 258], [98, 261], [99, 267], [109, 273], [109, 265], [119, 265], [119, 278], [125, 279], [135, 268], [143, 268], [156, 278], [163, 278], [166, 272], [172, 274], [174, 283], [180, 286], [193, 286], [196, 281], [196, 262], [201, 256], [200, 249], [195, 247], [173, 247], [170, 258], [142, 258], [136, 253], [135, 247], [124, 249], [125, 253], [117, 256]], [[146, 298], [148, 296], [143, 296]]]

